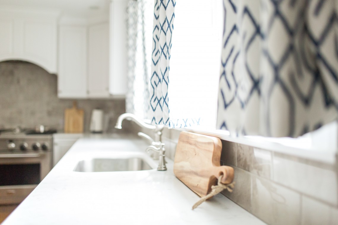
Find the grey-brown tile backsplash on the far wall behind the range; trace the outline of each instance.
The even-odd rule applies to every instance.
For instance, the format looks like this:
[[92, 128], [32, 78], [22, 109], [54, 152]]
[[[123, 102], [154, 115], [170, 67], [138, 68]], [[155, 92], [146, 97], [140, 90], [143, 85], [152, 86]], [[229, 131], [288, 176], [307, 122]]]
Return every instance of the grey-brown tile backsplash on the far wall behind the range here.
[[[63, 132], [64, 111], [73, 101], [57, 97], [57, 75], [24, 61], [0, 62], [0, 129], [42, 124]], [[95, 108], [104, 111], [107, 132], [114, 132], [117, 117], [125, 112], [124, 100], [83, 99], [77, 105], [84, 110], [84, 132], [89, 132]]]

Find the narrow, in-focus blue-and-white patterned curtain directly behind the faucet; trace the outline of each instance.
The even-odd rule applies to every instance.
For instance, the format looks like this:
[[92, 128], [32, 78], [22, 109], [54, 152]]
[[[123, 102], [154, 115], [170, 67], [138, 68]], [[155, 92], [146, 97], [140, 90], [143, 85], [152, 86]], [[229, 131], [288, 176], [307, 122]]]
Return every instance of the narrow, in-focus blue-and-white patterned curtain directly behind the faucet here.
[[169, 122], [169, 60], [176, 0], [155, 0], [150, 78], [149, 119], [153, 124]]

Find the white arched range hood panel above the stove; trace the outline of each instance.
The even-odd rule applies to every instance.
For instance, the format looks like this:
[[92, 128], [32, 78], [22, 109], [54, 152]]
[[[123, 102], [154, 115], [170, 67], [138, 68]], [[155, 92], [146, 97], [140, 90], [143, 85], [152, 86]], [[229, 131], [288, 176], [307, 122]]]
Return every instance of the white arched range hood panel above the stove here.
[[0, 61], [24, 60], [57, 72], [57, 18], [54, 11], [1, 7]]

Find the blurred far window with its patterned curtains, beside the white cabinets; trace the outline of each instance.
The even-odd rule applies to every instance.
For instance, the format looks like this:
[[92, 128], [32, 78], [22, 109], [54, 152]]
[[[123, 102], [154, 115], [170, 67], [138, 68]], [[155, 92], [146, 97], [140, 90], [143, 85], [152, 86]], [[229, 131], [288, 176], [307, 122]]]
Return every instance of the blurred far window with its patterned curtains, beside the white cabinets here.
[[149, 111], [152, 0], [127, 5], [128, 91], [126, 112], [145, 118]]

